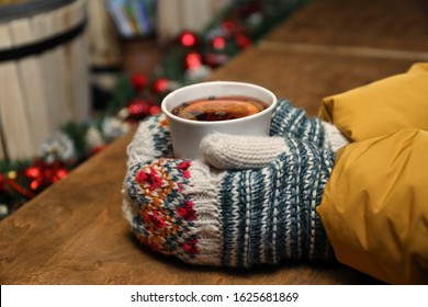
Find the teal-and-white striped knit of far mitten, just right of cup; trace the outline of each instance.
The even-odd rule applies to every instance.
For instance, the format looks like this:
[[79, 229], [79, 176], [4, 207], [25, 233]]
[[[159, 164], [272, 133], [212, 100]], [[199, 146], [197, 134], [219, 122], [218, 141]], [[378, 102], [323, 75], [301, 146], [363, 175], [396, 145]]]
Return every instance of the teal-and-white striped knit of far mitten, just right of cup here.
[[303, 109], [293, 106], [285, 99], [280, 99], [273, 111], [270, 135], [284, 136], [286, 134], [312, 141], [318, 148], [328, 146], [326, 132], [319, 118], [307, 117]]

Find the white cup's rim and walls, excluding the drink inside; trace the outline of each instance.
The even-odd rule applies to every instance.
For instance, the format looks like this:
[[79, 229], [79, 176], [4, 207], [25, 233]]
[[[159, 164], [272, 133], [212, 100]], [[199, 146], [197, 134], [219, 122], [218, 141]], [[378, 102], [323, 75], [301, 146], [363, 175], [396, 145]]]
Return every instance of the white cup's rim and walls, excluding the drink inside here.
[[[192, 121], [171, 113], [183, 102], [210, 96], [244, 95], [266, 103], [259, 113], [227, 121]], [[187, 86], [169, 93], [161, 103], [161, 110], [169, 118], [172, 148], [178, 159], [200, 158], [200, 144], [204, 136], [217, 132], [232, 135], [268, 136], [277, 96], [269, 90], [245, 82], [211, 81]]]

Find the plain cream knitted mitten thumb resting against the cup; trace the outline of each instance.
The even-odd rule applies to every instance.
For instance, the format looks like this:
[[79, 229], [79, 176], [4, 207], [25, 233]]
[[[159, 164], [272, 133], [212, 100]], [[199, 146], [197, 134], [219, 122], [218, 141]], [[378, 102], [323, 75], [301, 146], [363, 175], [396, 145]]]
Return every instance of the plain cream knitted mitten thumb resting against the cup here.
[[286, 150], [282, 137], [214, 133], [201, 141], [202, 158], [217, 169], [262, 168]]

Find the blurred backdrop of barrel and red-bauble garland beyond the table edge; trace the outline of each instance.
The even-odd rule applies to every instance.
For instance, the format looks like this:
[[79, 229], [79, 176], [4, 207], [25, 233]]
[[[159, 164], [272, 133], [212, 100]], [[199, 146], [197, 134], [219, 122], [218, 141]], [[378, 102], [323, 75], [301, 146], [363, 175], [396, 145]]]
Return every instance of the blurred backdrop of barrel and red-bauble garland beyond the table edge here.
[[305, 0], [0, 0], [0, 218]]

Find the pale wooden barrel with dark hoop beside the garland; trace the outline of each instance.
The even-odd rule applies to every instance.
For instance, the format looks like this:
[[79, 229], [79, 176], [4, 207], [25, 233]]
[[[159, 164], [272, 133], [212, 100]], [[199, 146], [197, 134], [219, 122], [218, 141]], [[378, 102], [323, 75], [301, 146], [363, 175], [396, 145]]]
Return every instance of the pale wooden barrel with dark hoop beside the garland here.
[[0, 159], [89, 117], [85, 0], [0, 0]]

